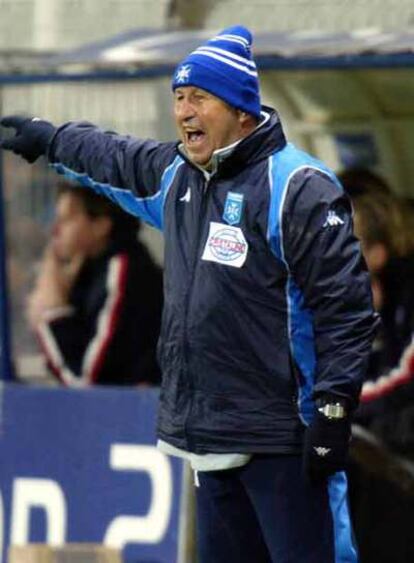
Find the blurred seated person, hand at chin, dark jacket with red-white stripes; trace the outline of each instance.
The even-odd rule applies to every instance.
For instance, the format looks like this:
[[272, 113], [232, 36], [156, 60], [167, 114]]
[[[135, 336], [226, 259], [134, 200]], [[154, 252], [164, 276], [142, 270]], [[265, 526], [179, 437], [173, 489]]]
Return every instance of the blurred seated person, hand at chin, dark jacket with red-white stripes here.
[[60, 184], [27, 316], [64, 385], [159, 384], [162, 274], [138, 229], [108, 199]]

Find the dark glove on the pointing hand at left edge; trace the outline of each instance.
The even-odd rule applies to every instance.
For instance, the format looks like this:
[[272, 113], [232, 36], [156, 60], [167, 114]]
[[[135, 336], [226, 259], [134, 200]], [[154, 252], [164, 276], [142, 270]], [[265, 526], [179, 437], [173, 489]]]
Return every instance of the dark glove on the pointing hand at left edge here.
[[49, 121], [27, 115], [9, 115], [0, 120], [3, 127], [13, 127], [16, 135], [10, 139], [0, 139], [0, 147], [22, 156], [27, 162], [34, 162], [46, 154], [49, 142], [56, 127]]

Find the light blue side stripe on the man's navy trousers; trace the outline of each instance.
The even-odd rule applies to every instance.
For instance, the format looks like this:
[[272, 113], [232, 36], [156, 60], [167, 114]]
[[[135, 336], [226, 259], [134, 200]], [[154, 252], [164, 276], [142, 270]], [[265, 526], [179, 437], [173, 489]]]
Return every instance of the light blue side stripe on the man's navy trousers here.
[[334, 527], [335, 563], [358, 563], [358, 555], [352, 541], [347, 490], [347, 479], [343, 471], [329, 478], [328, 495]]

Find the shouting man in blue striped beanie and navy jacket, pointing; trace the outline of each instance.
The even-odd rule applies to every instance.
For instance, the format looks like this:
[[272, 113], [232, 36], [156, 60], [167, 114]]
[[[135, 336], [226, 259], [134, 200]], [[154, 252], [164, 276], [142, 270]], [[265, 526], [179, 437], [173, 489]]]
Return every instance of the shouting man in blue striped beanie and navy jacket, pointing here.
[[346, 466], [377, 325], [351, 206], [261, 106], [228, 28], [172, 81], [180, 142], [9, 116], [47, 155], [164, 231], [159, 448], [194, 470], [201, 563], [357, 561]]

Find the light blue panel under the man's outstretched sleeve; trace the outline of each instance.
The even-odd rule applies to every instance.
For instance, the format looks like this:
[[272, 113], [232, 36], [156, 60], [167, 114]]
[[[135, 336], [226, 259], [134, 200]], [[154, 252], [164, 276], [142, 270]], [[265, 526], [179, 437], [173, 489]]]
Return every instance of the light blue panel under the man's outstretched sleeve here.
[[82, 186], [91, 188], [95, 193], [104, 195], [122, 207], [127, 213], [139, 217], [153, 227], [162, 230], [164, 204], [170, 187], [174, 181], [178, 168], [183, 164], [183, 159], [177, 156], [164, 170], [161, 178], [160, 189], [152, 196], [138, 197], [130, 190], [117, 188], [108, 183], [96, 182], [88, 174], [75, 172], [63, 164], [51, 164], [58, 174]]

